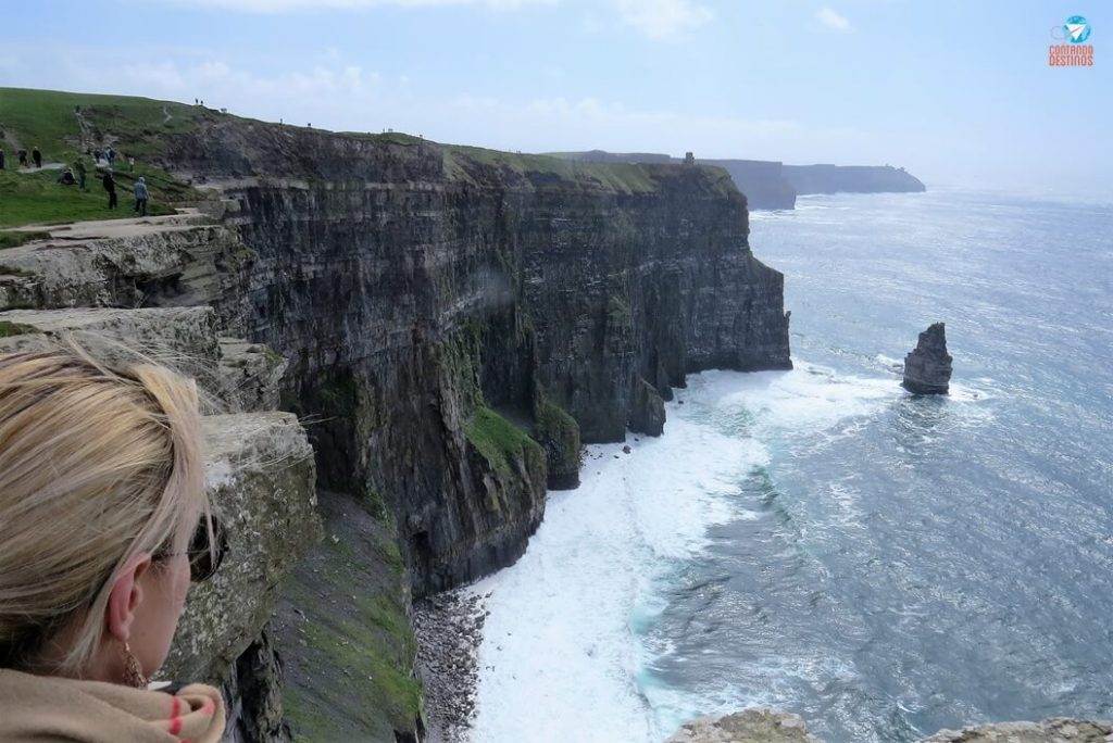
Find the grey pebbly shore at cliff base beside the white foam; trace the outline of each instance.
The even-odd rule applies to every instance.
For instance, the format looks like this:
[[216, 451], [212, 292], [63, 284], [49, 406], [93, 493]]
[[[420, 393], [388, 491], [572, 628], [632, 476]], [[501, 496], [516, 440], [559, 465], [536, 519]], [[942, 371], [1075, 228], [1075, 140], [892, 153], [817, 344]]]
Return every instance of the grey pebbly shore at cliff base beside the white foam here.
[[414, 602], [417, 675], [425, 685], [426, 743], [461, 743], [475, 717], [486, 597], [461, 588]]

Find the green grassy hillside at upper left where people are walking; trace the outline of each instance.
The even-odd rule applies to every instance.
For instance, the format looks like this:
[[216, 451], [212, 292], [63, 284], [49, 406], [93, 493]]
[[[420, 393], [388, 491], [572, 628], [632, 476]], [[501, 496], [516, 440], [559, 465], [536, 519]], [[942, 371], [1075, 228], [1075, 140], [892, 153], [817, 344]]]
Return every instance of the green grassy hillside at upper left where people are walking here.
[[[86, 122], [83, 131], [78, 107]], [[0, 88], [0, 148], [6, 155], [6, 168], [0, 171], [0, 227], [130, 217], [131, 186], [139, 176], [146, 177], [150, 191], [148, 212], [173, 214], [169, 204], [198, 195], [159, 167], [165, 137], [188, 131], [198, 117], [209, 115], [198, 107], [149, 98]], [[31, 148], [38, 147], [43, 164], [73, 166], [86, 149], [105, 143], [119, 153], [114, 170], [120, 208], [115, 211], [107, 208], [108, 195], [88, 156], [83, 156], [88, 192], [59, 185], [56, 169], [18, 171], [19, 149], [28, 151], [28, 160]], [[134, 172], [128, 157], [136, 159]]]

